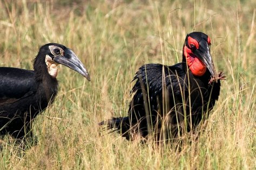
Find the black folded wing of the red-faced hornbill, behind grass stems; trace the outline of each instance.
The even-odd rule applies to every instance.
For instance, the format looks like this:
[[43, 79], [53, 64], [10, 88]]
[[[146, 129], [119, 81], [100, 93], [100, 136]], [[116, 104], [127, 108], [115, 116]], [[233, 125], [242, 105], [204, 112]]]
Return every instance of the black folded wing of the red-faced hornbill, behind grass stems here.
[[[163, 102], [163, 89], [167, 90], [168, 100], [182, 100], [184, 86], [184, 70], [181, 63], [174, 66], [147, 64], [139, 68], [133, 81], [136, 81], [131, 93], [134, 95], [130, 104], [129, 114], [136, 117], [145, 116], [145, 108], [158, 110]], [[145, 100], [148, 107], [145, 107]], [[172, 104], [171, 107], [173, 107]], [[139, 115], [138, 115], [139, 114]], [[131, 115], [130, 115], [131, 116]]]

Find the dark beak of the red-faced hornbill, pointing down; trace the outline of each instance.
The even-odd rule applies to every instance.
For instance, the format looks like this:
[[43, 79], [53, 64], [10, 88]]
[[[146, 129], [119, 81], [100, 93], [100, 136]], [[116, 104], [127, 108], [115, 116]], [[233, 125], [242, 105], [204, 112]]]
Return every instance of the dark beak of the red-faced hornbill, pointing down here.
[[202, 62], [204, 62], [205, 66], [208, 68], [211, 75], [213, 77], [217, 77], [215, 67], [212, 62], [212, 56], [210, 54], [210, 48], [207, 42], [201, 41], [199, 48], [193, 51], [193, 53], [197, 55]]

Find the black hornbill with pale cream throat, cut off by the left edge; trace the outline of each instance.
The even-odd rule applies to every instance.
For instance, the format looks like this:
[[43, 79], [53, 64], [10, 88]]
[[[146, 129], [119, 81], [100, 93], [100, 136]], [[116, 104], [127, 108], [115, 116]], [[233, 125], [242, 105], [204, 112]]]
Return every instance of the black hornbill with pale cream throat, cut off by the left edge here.
[[0, 67], [0, 135], [17, 139], [31, 137], [31, 120], [57, 95], [58, 64], [67, 66], [90, 81], [83, 63], [69, 48], [50, 43], [42, 46], [33, 69]]

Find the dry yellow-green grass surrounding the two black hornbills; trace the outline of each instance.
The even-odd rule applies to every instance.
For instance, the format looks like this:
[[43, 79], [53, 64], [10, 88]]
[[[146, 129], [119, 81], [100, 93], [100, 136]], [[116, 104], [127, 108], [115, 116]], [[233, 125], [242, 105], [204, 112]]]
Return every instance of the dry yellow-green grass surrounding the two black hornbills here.
[[[55, 103], [33, 124], [38, 144], [23, 151], [6, 136], [0, 169], [256, 168], [255, 1], [2, 0], [0, 6], [0, 66], [32, 69], [39, 47], [59, 42], [92, 79], [60, 66]], [[193, 30], [211, 37], [215, 66], [227, 75], [198, 139], [186, 137], [178, 151], [100, 133], [98, 122], [126, 115], [139, 66], [180, 62]]]

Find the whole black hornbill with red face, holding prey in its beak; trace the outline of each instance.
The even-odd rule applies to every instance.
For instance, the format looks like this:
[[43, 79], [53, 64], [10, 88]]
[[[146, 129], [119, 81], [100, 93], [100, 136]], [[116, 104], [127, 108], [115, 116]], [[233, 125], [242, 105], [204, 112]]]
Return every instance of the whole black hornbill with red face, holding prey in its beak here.
[[173, 66], [149, 63], [139, 68], [133, 81], [127, 117], [100, 122], [128, 140], [161, 141], [195, 128], [207, 117], [220, 94], [220, 79], [210, 54], [210, 38], [202, 32], [187, 34], [183, 61]]

